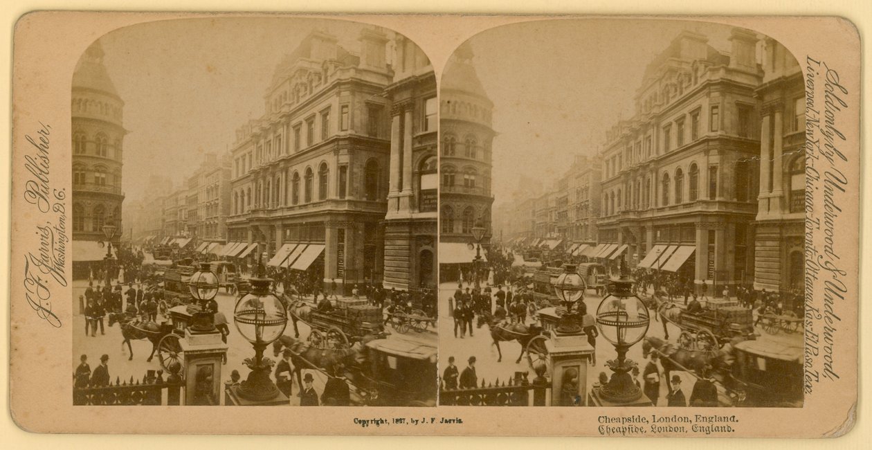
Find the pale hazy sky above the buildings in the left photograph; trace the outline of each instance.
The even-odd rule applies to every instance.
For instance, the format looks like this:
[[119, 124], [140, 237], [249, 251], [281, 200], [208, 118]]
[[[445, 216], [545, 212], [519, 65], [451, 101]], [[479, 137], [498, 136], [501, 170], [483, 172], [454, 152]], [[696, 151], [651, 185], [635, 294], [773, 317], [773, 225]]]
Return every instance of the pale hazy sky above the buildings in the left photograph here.
[[235, 130], [263, 113], [276, 65], [312, 29], [358, 52], [363, 25], [299, 18], [182, 19], [134, 25], [100, 39], [104, 64], [125, 101], [123, 189], [127, 201], [148, 177], [176, 187], [203, 160], [224, 153]]

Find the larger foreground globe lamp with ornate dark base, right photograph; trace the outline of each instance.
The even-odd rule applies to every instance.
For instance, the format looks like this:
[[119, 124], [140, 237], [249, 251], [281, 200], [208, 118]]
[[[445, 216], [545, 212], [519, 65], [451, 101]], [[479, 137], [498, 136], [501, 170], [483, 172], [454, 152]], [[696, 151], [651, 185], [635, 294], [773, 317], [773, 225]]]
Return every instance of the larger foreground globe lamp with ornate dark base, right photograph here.
[[614, 373], [609, 383], [601, 387], [600, 396], [616, 403], [632, 402], [642, 397], [642, 391], [630, 375], [637, 364], [626, 355], [633, 344], [645, 337], [651, 324], [648, 308], [633, 293], [634, 282], [628, 274], [626, 262], [622, 260], [621, 277], [611, 280], [610, 293], [596, 309], [596, 327], [617, 350], [617, 359], [606, 363]]

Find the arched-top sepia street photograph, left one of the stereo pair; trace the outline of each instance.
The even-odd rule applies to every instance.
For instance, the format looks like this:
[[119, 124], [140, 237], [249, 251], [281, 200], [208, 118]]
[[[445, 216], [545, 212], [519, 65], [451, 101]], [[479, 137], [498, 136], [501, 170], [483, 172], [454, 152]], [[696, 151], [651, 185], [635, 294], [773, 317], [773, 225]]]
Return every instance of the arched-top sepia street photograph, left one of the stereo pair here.
[[100, 37], [72, 74], [74, 405], [435, 406], [436, 80], [349, 21]]

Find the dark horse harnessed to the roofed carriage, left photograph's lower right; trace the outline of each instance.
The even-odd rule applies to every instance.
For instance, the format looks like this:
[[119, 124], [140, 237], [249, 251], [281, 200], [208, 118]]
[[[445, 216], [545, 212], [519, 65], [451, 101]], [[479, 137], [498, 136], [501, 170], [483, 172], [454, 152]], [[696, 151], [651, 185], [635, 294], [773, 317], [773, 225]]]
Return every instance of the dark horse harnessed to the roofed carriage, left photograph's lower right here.
[[282, 335], [273, 343], [273, 356], [278, 358], [283, 348], [290, 350], [291, 364], [296, 373], [297, 385], [303, 385], [301, 373], [303, 368], [330, 371], [342, 363], [345, 367], [360, 367], [364, 365], [363, 344], [355, 343], [350, 348], [319, 349], [303, 340]]

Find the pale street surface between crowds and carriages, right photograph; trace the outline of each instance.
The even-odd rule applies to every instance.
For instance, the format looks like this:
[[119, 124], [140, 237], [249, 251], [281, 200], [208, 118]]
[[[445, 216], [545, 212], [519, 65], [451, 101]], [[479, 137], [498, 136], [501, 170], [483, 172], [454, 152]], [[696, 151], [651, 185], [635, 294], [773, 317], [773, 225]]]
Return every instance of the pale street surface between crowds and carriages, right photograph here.
[[[467, 283], [464, 283], [463, 288], [466, 290]], [[535, 378], [535, 372], [533, 372], [532, 368], [529, 367], [526, 354], [524, 355], [524, 358], [521, 358], [520, 363], [515, 364], [514, 362], [521, 352], [521, 345], [516, 341], [500, 343], [502, 361], [497, 362], [497, 348], [496, 345], [493, 344], [493, 339], [490, 337], [487, 324], [482, 325], [480, 329], [474, 328], [476, 320], [473, 320], [472, 337], [467, 333], [465, 338], [460, 338], [460, 331], [458, 331], [458, 337], [454, 337], [453, 317], [449, 317], [450, 309], [448, 307], [448, 298], [453, 296], [454, 290], [456, 289], [457, 283], [442, 283], [439, 285], [439, 335], [441, 337], [439, 339], [440, 375], [441, 371], [444, 371], [447, 365], [448, 357], [453, 356], [455, 358], [454, 364], [458, 366], [460, 371], [462, 371], [463, 368], [467, 366], [467, 358], [474, 356], [476, 358], [475, 369], [479, 378], [479, 385], [482, 380], [484, 380], [486, 384], [495, 383], [498, 379], [500, 382], [507, 381], [509, 378], [514, 377], [514, 372], [528, 372], [528, 379], [532, 381], [532, 379]], [[494, 290], [496, 290], [495, 287]], [[596, 308], [599, 306], [601, 300], [602, 298], [596, 297], [592, 290], [589, 290], [584, 297], [584, 303], [587, 305], [589, 312], [593, 315], [596, 315]], [[649, 325], [646, 336], [664, 338], [663, 324], [655, 321], [653, 316], [654, 311], [651, 311], [651, 324]], [[533, 319], [528, 317], [528, 324], [533, 322]], [[680, 330], [673, 324], [667, 326], [669, 327], [671, 341], [675, 342]], [[793, 344], [800, 347], [802, 345], [802, 335], [800, 333], [781, 333], [773, 336], [762, 331], [760, 326], [756, 328], [756, 333], [759, 335], [757, 339], [761, 342]], [[600, 372], [605, 372], [606, 375], [609, 376], [611, 375], [611, 371], [605, 366], [605, 362], [616, 357], [617, 353], [615, 348], [608, 341], [602, 337], [596, 340], [596, 365], [588, 371], [588, 386], [597, 381]], [[641, 342], [630, 348], [630, 351], [627, 353], [627, 358], [638, 363], [640, 372], [644, 371], [644, 366], [647, 362], [642, 356]], [[662, 374], [662, 367], [660, 370]], [[696, 379], [686, 372], [674, 373], [677, 373], [681, 377], [682, 390], [685, 392], [685, 396], [689, 397]], [[642, 382], [641, 377], [639, 381], [640, 383]], [[665, 380], [661, 380], [661, 392], [657, 406], [666, 406], [665, 396], [668, 392], [667, 389], [668, 383], [666, 383]], [[723, 399], [723, 389], [720, 387], [719, 392]]]

